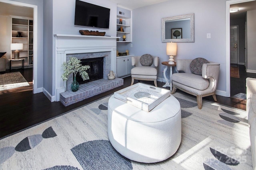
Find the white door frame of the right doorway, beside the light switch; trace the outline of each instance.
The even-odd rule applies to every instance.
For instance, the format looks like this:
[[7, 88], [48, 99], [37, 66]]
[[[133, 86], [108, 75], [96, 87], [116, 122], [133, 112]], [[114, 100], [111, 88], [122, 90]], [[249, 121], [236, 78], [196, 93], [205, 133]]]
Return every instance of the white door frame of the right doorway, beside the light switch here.
[[226, 97], [230, 97], [230, 5], [254, 0], [226, 1]]

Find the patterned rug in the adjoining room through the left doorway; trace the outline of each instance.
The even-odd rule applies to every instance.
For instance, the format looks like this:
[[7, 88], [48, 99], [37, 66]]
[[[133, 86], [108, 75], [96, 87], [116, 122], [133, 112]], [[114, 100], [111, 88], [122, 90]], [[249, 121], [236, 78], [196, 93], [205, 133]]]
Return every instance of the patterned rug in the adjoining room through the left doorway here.
[[23, 86], [29, 86], [29, 84], [20, 72], [0, 74], [0, 91]]

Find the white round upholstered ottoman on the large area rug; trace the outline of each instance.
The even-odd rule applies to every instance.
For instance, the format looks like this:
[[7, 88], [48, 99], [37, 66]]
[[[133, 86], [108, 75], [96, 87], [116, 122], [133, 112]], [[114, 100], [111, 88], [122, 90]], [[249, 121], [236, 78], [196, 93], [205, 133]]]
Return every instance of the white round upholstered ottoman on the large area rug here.
[[108, 100], [108, 138], [114, 149], [130, 160], [166, 160], [181, 142], [180, 103], [170, 96], [147, 112], [113, 95]]

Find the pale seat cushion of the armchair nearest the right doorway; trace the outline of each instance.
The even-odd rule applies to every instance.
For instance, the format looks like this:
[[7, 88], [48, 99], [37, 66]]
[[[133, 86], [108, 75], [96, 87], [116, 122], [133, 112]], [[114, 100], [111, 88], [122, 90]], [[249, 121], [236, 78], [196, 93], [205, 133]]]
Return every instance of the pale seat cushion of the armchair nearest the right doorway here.
[[198, 90], [205, 90], [209, 86], [207, 78], [191, 73], [174, 73], [172, 80]]

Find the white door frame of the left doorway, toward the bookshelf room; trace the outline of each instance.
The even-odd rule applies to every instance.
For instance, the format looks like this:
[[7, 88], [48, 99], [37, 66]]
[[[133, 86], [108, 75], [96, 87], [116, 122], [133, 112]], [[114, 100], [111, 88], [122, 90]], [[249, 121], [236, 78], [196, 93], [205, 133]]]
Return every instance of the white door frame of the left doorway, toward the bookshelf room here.
[[0, 2], [4, 2], [6, 4], [12, 4], [12, 5], [17, 5], [17, 6], [25, 6], [25, 7], [30, 7], [33, 8], [33, 94], [41, 92], [38, 87], [38, 78], [37, 78], [37, 57], [38, 57], [38, 6], [32, 5], [32, 4], [26, 4], [22, 2], [16, 2], [12, 0], [0, 0]]

